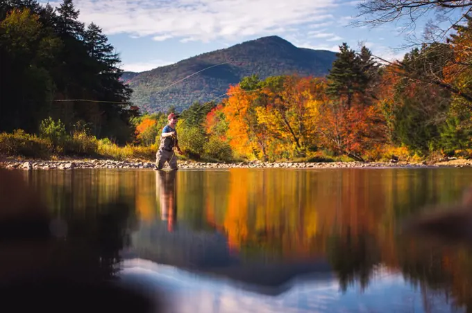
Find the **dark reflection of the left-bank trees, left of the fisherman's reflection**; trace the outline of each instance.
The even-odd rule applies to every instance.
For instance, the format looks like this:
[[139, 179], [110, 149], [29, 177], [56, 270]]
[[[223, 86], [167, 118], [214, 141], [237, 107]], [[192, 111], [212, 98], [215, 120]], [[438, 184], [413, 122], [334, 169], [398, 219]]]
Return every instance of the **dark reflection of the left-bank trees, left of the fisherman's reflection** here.
[[63, 275], [81, 280], [115, 276], [119, 251], [136, 229], [135, 178], [138, 175], [103, 171], [24, 173], [39, 190], [53, 217], [67, 225], [57, 245], [54, 264]]

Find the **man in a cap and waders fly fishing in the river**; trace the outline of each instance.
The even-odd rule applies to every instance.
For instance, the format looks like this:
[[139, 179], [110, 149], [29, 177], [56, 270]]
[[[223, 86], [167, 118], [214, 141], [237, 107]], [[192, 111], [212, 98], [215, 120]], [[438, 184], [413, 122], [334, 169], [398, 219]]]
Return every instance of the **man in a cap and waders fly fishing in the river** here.
[[178, 115], [171, 113], [167, 116], [169, 124], [165, 125], [162, 129], [162, 134], [160, 135], [160, 145], [159, 150], [155, 154], [155, 168], [157, 170], [162, 170], [164, 163], [169, 162], [169, 166], [172, 170], [178, 170], [177, 168], [177, 158], [174, 153], [174, 147], [177, 148], [178, 153], [182, 154], [180, 147], [178, 146], [177, 140], [177, 124]]

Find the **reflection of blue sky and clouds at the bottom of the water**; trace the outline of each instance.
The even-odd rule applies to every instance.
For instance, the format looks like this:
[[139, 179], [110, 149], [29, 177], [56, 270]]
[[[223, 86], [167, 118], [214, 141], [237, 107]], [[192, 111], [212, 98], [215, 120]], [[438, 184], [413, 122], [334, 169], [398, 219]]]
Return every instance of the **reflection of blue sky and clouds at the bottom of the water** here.
[[172, 312], [425, 312], [423, 298], [430, 312], [451, 312], [444, 296], [421, 294], [401, 274], [377, 275], [364, 292], [350, 287], [342, 294], [336, 278], [319, 277], [295, 281], [280, 296], [266, 296], [238, 288], [230, 280], [146, 260], [126, 260], [123, 266], [121, 275], [128, 281], [164, 289], [174, 303]]

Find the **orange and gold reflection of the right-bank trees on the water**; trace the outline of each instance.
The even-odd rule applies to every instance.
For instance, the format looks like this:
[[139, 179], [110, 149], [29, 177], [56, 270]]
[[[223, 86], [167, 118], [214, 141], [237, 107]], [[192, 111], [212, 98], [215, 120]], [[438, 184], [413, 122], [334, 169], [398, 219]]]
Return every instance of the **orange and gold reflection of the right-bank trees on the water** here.
[[[453, 172], [235, 169], [221, 175], [221, 181], [206, 178], [219, 190], [205, 190], [205, 214], [228, 233], [230, 246], [243, 256], [323, 256], [337, 272], [342, 289], [356, 281], [367, 287], [383, 265], [416, 283], [425, 282], [423, 289], [450, 288], [450, 296], [461, 303], [472, 298], [464, 292], [472, 273], [462, 275], [461, 267], [469, 261], [463, 252], [415, 253], [418, 247], [405, 249], [397, 239], [399, 223], [412, 211], [460, 197], [462, 186], [469, 183]], [[226, 200], [219, 193], [223, 190], [228, 192]]]

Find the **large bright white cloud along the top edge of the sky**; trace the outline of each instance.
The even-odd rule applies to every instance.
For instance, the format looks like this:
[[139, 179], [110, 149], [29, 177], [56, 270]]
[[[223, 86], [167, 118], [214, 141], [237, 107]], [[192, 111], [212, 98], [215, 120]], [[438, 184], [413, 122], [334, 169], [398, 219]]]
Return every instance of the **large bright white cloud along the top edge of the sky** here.
[[[273, 35], [274, 29], [330, 23], [335, 0], [75, 0], [79, 19], [106, 35], [183, 42]], [[58, 4], [58, 3], [51, 3]]]

